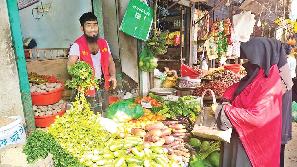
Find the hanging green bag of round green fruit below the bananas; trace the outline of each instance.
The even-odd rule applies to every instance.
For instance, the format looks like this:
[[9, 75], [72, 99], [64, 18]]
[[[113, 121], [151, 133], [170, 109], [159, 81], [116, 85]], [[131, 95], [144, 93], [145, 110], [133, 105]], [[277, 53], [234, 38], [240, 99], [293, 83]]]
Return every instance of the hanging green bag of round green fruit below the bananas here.
[[152, 72], [158, 66], [157, 59], [147, 46], [140, 53], [138, 67], [144, 72]]

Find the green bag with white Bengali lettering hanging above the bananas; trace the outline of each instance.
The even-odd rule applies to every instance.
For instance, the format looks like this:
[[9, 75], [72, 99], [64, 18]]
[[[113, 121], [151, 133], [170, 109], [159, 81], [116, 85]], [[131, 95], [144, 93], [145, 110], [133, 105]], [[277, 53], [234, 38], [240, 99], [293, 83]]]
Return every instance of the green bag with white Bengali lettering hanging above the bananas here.
[[153, 23], [154, 10], [139, 0], [131, 0], [120, 26], [120, 31], [146, 41]]

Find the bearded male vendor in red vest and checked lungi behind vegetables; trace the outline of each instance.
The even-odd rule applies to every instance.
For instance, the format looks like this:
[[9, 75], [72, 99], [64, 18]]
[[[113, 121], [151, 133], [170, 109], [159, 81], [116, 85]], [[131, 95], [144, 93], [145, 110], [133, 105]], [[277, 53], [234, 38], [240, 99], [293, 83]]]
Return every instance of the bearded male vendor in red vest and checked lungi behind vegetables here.
[[113, 89], [116, 88], [116, 65], [113, 62], [108, 43], [105, 39], [98, 37], [97, 17], [89, 12], [83, 14], [79, 21], [83, 35], [71, 45], [67, 67], [84, 61], [91, 65], [94, 75], [98, 79], [104, 78], [100, 84], [100, 90], [90, 91], [90, 97], [86, 97], [86, 99], [91, 103], [91, 110], [94, 111], [94, 114], [100, 113], [105, 116], [106, 108], [109, 105], [109, 82], [112, 81]]

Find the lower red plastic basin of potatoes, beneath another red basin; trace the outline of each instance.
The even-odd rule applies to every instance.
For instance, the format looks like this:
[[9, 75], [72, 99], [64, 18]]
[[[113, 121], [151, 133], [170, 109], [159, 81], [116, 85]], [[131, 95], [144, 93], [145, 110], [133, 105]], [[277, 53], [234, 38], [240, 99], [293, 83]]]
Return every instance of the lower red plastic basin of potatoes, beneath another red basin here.
[[34, 116], [35, 119], [35, 125], [37, 127], [49, 127], [50, 124], [55, 122], [55, 118], [57, 115], [59, 115], [60, 117], [65, 113], [67, 108], [67, 105], [65, 105], [65, 108], [53, 115], [46, 115], [46, 116]]

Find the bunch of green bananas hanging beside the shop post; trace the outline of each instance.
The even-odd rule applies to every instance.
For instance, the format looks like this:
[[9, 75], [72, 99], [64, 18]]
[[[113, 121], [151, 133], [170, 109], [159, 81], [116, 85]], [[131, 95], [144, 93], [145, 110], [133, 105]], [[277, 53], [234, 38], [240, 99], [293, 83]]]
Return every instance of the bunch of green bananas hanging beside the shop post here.
[[156, 56], [160, 54], [165, 54], [167, 53], [167, 48], [166, 46], [166, 38], [168, 37], [169, 31], [163, 31], [162, 33], [158, 30], [154, 30], [154, 36], [149, 36], [147, 39], [146, 45], [150, 49], [150, 51]]

